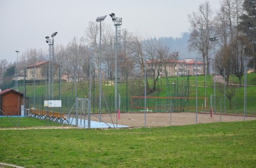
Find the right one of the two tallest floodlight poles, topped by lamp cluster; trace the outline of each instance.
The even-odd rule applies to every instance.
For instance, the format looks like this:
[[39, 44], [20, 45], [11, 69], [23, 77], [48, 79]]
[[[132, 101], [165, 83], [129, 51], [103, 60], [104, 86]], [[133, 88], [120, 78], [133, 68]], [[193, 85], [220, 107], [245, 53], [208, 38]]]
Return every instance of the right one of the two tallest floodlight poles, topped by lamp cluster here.
[[115, 17], [115, 13], [110, 13], [109, 16], [112, 18], [116, 27], [116, 50], [115, 50], [115, 111], [116, 111], [116, 127], [117, 127], [117, 28], [122, 25], [122, 18]]

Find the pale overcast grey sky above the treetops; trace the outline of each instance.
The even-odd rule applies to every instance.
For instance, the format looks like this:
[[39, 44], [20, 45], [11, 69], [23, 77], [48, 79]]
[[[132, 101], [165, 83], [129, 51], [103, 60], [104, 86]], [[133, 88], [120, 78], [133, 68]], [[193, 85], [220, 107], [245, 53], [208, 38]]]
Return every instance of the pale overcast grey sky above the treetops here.
[[[145, 38], [179, 37], [189, 31], [188, 14], [198, 11], [205, 0], [0, 0], [0, 60], [17, 61], [17, 53], [30, 48], [48, 51], [45, 36], [54, 45], [67, 45], [81, 38], [88, 22], [115, 13], [121, 28]], [[209, 1], [212, 11], [220, 0]], [[113, 25], [111, 17], [104, 20]], [[115, 27], [113, 25], [113, 31]]]

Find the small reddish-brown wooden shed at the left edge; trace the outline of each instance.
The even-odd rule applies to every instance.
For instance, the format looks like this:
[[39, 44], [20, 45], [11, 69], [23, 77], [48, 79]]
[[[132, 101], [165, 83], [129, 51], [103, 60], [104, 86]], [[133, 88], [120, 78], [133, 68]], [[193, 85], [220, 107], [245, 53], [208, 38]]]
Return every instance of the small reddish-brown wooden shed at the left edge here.
[[13, 89], [0, 92], [0, 115], [20, 116], [21, 105], [23, 105], [23, 94]]

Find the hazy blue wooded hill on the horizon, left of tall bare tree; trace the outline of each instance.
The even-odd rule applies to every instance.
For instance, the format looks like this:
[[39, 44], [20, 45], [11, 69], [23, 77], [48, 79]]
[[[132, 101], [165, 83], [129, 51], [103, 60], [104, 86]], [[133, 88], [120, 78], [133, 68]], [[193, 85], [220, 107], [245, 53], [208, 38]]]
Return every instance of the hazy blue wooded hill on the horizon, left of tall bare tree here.
[[179, 38], [161, 37], [159, 39], [163, 40], [172, 52], [179, 52], [180, 59], [200, 57], [197, 52], [190, 52], [188, 50], [189, 32], [184, 32]]

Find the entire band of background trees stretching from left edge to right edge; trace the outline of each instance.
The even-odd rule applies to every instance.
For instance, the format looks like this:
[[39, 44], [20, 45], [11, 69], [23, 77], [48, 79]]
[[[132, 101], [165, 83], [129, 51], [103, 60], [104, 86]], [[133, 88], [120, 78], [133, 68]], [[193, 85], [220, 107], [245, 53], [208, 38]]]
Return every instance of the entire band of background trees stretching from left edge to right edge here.
[[[248, 67], [255, 67], [255, 1], [222, 0], [220, 9], [216, 12], [211, 10], [210, 3], [205, 1], [198, 6], [198, 11], [188, 15], [188, 48], [197, 51], [204, 60], [205, 74], [210, 73], [211, 59], [214, 59], [216, 72], [227, 82], [234, 74], [241, 83], [244, 71]], [[62, 73], [68, 76], [74, 76], [76, 69], [78, 79], [88, 78], [90, 66], [96, 69], [97, 76], [100, 62], [101, 71], [109, 80], [118, 75], [120, 80], [129, 76], [129, 80], [134, 80], [134, 83], [141, 82], [136, 79], [143, 78], [147, 73], [147, 80], [153, 81], [152, 86], [147, 81], [147, 92], [154, 92], [159, 76], [165, 72], [164, 62], [168, 59], [179, 59], [179, 52], [175, 48], [171, 50], [170, 44], [163, 38], [143, 38], [126, 29], [118, 29], [118, 74], [115, 74], [114, 30], [113, 25], [102, 22], [102, 58], [99, 56], [99, 24], [89, 22], [83, 37], [74, 37], [67, 45], [54, 46], [54, 60], [61, 66]], [[209, 40], [214, 37], [217, 37], [218, 41]], [[22, 52], [19, 62], [16, 63], [17, 67], [22, 69], [48, 59], [48, 51], [30, 48]], [[147, 68], [145, 61], [150, 62]], [[2, 82], [7, 76], [15, 73], [16, 63], [8, 63], [6, 59], [0, 61]], [[19, 71], [21, 72], [22, 70]]]

